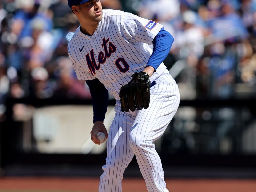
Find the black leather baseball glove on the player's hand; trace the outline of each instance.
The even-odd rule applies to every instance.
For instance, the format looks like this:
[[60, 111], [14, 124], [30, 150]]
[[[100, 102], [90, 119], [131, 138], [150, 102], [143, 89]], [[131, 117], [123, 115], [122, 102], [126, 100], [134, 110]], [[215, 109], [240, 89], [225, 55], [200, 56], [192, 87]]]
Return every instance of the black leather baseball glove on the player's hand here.
[[149, 75], [143, 71], [135, 72], [132, 80], [120, 89], [121, 111], [128, 112], [148, 108], [150, 102]]

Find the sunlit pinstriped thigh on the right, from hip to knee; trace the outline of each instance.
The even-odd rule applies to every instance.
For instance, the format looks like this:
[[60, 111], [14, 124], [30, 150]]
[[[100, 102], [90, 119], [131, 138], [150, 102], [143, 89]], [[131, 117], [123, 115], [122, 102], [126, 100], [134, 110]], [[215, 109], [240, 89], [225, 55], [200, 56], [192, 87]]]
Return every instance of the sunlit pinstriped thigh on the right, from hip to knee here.
[[154, 141], [164, 133], [180, 102], [176, 83], [158, 82], [150, 91], [150, 105], [138, 111], [131, 132], [132, 137], [143, 141]]

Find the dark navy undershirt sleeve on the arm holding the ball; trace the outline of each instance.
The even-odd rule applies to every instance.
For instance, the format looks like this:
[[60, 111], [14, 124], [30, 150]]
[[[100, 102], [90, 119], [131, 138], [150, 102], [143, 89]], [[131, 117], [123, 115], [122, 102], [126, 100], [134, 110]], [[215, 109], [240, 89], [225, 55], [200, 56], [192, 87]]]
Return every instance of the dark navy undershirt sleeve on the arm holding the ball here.
[[92, 96], [93, 123], [104, 121], [108, 107], [108, 90], [98, 79], [86, 81], [86, 84]]

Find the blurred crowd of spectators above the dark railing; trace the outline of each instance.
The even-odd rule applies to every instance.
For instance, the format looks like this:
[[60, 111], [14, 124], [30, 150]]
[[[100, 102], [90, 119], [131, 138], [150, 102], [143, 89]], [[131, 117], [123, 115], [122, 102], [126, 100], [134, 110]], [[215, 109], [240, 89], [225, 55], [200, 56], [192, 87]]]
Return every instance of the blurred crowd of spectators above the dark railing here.
[[[174, 36], [164, 64], [181, 99], [256, 94], [256, 0], [101, 0], [155, 20]], [[11, 98], [86, 98], [66, 38], [79, 26], [67, 0], [0, 1], [0, 114]]]

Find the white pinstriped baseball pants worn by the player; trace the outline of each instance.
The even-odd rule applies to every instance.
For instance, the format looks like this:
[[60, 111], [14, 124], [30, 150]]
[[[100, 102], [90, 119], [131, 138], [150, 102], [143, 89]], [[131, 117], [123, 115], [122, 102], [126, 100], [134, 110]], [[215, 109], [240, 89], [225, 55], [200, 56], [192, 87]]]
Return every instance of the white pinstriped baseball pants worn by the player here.
[[136, 155], [148, 191], [167, 192], [164, 171], [153, 141], [165, 131], [175, 115], [180, 94], [178, 86], [166, 70], [151, 87], [148, 109], [121, 113], [116, 101], [116, 115], [107, 140], [106, 165], [100, 177], [99, 191], [122, 191], [121, 180], [125, 168]]

